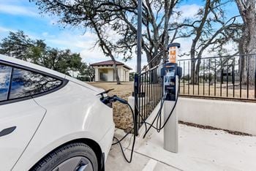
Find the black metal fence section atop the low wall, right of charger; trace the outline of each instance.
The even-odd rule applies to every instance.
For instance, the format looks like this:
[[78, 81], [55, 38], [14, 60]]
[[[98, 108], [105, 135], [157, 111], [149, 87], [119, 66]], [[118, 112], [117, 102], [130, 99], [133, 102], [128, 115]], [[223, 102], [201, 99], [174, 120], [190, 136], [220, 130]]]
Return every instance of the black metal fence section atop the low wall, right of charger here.
[[256, 55], [183, 59], [181, 96], [256, 100]]

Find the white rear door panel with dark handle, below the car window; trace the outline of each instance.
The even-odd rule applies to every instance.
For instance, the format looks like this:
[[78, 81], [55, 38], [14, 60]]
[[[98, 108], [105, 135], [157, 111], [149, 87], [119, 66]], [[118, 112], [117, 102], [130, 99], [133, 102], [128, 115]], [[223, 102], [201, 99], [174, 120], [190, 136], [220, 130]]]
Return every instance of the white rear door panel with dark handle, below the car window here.
[[0, 106], [0, 131], [17, 126], [11, 134], [0, 137], [0, 170], [12, 169], [44, 115], [45, 110], [33, 99]]

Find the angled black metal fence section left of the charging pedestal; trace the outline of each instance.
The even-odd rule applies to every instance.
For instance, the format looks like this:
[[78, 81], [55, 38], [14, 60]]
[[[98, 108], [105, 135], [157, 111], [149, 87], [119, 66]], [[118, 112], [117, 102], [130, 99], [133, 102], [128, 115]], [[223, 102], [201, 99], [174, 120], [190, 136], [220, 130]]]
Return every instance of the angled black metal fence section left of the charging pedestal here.
[[[135, 118], [137, 128], [154, 110], [162, 99], [161, 66], [135, 74]], [[136, 133], [138, 134], [138, 132]]]

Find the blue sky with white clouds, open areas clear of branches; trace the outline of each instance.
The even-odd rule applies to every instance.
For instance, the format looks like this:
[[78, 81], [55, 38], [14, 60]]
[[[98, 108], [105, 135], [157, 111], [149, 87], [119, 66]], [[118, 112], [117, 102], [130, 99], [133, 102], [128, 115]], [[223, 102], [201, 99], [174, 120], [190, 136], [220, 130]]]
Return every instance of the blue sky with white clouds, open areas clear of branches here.
[[[192, 16], [203, 5], [203, 0], [184, 0], [178, 9], [182, 17]], [[226, 7], [228, 15], [238, 14], [236, 4]], [[49, 47], [70, 49], [80, 53], [87, 64], [109, 60], [99, 47], [94, 47], [97, 37], [85, 28], [64, 28], [57, 23], [54, 16], [41, 15], [34, 3], [29, 0], [0, 0], [0, 39], [7, 37], [10, 31], [22, 30], [31, 39], [44, 39]], [[179, 40], [181, 51], [185, 51], [191, 44], [190, 40]], [[93, 48], [94, 47], [94, 48]], [[136, 56], [136, 55], [135, 55]], [[116, 58], [121, 61], [121, 58]], [[122, 61], [124, 62], [124, 61]], [[125, 62], [132, 69], [136, 68], [136, 58]], [[146, 56], [142, 56], [142, 66], [146, 64]]]

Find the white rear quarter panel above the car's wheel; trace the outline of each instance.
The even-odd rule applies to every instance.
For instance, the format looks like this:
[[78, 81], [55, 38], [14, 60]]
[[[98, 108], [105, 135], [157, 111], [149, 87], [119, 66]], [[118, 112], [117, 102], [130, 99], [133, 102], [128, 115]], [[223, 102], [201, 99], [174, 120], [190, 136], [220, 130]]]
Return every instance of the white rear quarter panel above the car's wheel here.
[[[73, 86], [76, 86], [75, 91]], [[72, 91], [72, 95], [69, 91]], [[83, 97], [81, 94], [87, 96]], [[100, 142], [108, 131], [113, 132], [112, 109], [105, 105], [102, 106], [99, 97], [83, 86], [69, 82], [61, 90], [40, 96], [35, 100], [47, 109], [47, 114], [14, 170], [28, 170], [29, 168], [24, 166], [31, 166], [42, 156], [70, 140], [89, 138]], [[56, 113], [61, 113], [61, 115]], [[112, 137], [110, 137], [110, 142], [112, 142]], [[101, 145], [102, 151], [104, 143], [102, 142]], [[109, 151], [109, 149], [106, 150]], [[108, 151], [103, 152], [108, 155]]]

